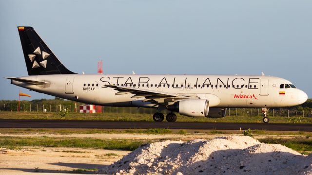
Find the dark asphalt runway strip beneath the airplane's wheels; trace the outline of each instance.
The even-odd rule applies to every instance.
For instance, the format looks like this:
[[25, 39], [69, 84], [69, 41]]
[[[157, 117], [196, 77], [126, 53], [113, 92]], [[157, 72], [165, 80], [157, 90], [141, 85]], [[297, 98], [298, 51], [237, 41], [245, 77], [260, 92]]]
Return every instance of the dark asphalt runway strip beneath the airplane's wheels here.
[[218, 129], [218, 130], [268, 130], [310, 131], [312, 124], [285, 123], [188, 123], [188, 122], [115, 122], [75, 120], [0, 120], [0, 128], [93, 128], [93, 129]]

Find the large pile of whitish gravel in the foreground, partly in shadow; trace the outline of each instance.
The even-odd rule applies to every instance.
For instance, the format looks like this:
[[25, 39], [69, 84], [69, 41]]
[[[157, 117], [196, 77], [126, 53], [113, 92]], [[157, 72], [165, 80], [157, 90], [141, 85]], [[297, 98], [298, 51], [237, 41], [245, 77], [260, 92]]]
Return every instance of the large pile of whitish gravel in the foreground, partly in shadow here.
[[116, 175], [312, 175], [312, 155], [247, 136], [141, 145], [98, 173]]

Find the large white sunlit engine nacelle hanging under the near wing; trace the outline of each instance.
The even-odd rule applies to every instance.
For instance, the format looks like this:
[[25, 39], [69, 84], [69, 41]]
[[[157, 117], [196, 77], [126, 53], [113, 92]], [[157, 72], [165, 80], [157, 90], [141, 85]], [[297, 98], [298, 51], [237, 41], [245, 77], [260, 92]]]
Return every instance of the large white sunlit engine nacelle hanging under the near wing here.
[[206, 99], [181, 100], [173, 105], [167, 105], [167, 109], [189, 117], [208, 117], [209, 101]]

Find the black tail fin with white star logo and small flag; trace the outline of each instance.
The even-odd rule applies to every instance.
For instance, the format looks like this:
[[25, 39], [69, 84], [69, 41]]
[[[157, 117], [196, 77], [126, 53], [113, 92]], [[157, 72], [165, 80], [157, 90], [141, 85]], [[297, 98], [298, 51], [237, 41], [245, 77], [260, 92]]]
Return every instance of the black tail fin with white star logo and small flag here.
[[73, 74], [65, 68], [32, 27], [18, 27], [28, 75]]

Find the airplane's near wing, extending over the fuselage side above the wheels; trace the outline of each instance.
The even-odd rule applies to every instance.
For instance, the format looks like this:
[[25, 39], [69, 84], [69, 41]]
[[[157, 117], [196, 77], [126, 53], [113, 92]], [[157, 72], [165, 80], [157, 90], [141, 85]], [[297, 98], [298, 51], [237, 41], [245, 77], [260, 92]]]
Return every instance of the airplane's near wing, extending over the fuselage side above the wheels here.
[[114, 88], [118, 90], [119, 92], [117, 92], [116, 95], [132, 93], [134, 95], [131, 98], [145, 97], [146, 100], [148, 99], [155, 100], [155, 99], [160, 99], [160, 98], [174, 98], [174, 99], [198, 98], [197, 96], [180, 95], [180, 94], [170, 93], [170, 92], [141, 89], [141, 88], [131, 88], [131, 87], [124, 87], [124, 86], [116, 86], [116, 85], [105, 85], [105, 87]]

